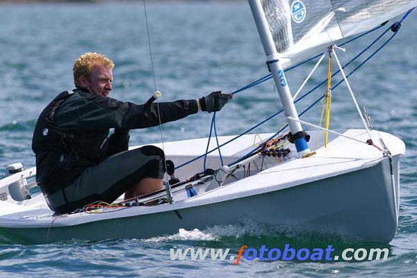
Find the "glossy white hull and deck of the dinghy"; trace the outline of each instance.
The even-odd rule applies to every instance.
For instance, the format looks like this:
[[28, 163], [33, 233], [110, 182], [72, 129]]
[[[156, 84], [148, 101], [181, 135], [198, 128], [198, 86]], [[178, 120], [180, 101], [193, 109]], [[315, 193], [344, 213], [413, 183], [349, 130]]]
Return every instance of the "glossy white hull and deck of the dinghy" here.
[[[316, 133], [309, 133], [313, 145]], [[349, 130], [345, 134], [366, 140], [361, 130]], [[1, 213], [0, 233], [31, 243], [72, 238], [149, 238], [174, 234], [181, 228], [204, 229], [251, 219], [283, 229], [325, 231], [357, 240], [389, 242], [398, 224], [398, 169], [404, 143], [387, 133], [382, 136], [393, 154], [395, 184], [390, 175], [389, 158], [368, 145], [333, 136], [329, 147], [318, 149], [315, 156], [293, 158], [273, 167], [268, 165], [268, 169], [261, 172], [256, 171], [259, 161], [252, 161], [257, 174], [238, 181], [229, 177], [225, 186], [173, 204], [53, 217], [49, 209], [36, 208], [42, 206], [35, 204], [36, 198], [31, 201], [32, 207], [26, 205], [21, 211], [18, 207], [22, 206], [0, 201], [1, 209], [6, 206], [10, 209], [8, 213]], [[225, 148], [222, 152], [225, 163], [247, 152], [253, 138], [243, 136]], [[201, 154], [200, 150], [205, 149], [202, 142], [206, 140], [165, 143], [165, 152], [179, 165]], [[178, 145], [184, 146], [184, 143], [187, 148], [179, 149]], [[237, 146], [239, 152], [236, 152]], [[218, 158], [213, 153], [208, 165], [215, 168], [216, 163]], [[265, 160], [265, 163], [273, 161]], [[180, 179], [190, 177], [193, 175], [190, 173], [201, 170], [201, 165], [201, 160], [196, 161], [188, 165], [188, 170], [178, 170], [178, 176]], [[243, 171], [235, 174], [243, 177]], [[42, 200], [42, 196], [38, 199]]]

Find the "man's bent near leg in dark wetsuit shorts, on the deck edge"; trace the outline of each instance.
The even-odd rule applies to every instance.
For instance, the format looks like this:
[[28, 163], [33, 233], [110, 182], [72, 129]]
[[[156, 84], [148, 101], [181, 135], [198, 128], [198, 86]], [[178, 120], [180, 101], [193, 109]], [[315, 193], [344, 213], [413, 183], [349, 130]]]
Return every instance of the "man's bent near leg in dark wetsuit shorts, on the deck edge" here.
[[[47, 196], [52, 210], [74, 211], [92, 202], [114, 202], [133, 188], [133, 195], [142, 195], [162, 188], [165, 173], [163, 150], [154, 146], [122, 152], [89, 167], [72, 183]], [[133, 186], [133, 187], [132, 187]], [[138, 188], [138, 194], [136, 194]]]

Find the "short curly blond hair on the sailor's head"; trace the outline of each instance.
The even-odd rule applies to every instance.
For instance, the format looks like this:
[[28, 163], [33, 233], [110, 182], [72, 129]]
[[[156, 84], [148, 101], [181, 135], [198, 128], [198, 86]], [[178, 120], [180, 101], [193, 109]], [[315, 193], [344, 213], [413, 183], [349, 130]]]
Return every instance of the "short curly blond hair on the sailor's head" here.
[[72, 69], [74, 72], [74, 84], [76, 88], [81, 88], [80, 76], [83, 75], [89, 79], [93, 67], [96, 66], [103, 66], [108, 69], [113, 69], [115, 64], [106, 56], [96, 52], [87, 52], [76, 59], [74, 68]]

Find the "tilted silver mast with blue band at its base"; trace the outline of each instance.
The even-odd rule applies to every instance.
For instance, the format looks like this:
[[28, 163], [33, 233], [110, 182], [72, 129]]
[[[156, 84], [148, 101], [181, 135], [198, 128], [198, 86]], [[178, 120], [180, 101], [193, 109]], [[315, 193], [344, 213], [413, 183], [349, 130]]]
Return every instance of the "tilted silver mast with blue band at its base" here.
[[282, 106], [284, 107], [284, 115], [287, 117], [290, 131], [294, 138], [293, 141], [295, 143], [295, 147], [297, 148], [298, 154], [302, 156], [309, 153], [310, 149], [306, 143], [306, 139], [304, 138], [304, 131], [302, 130], [300, 122], [288, 119], [288, 117], [292, 117], [295, 120], [299, 120], [298, 113], [295, 109], [293, 98], [291, 97], [290, 88], [288, 88], [288, 82], [286, 81], [284, 70], [279, 62], [277, 49], [275, 48], [275, 43], [272, 39], [272, 34], [265, 17], [265, 13], [263, 13], [261, 0], [248, 1], [256, 23], [256, 28], [258, 29], [259, 36], [261, 37], [263, 49], [265, 50], [266, 63], [268, 64], [272, 77], [274, 78], [275, 85], [277, 86], [279, 98], [281, 99]]

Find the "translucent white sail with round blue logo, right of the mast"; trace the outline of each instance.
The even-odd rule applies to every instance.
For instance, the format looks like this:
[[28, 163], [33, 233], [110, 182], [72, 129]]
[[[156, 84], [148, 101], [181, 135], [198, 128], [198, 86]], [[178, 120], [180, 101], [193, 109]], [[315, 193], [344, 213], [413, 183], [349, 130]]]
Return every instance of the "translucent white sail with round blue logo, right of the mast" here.
[[417, 6], [417, 0], [261, 0], [283, 67]]

